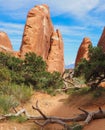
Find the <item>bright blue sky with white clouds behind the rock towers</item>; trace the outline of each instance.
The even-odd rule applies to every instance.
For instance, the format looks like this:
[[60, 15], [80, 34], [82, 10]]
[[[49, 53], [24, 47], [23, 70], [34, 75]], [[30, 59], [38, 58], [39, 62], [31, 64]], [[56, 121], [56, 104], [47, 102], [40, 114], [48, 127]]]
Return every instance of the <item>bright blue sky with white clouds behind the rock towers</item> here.
[[0, 0], [0, 31], [8, 34], [15, 50], [21, 44], [27, 13], [38, 4], [50, 7], [54, 27], [63, 35], [66, 65], [75, 62], [84, 37], [97, 45], [105, 26], [105, 0]]

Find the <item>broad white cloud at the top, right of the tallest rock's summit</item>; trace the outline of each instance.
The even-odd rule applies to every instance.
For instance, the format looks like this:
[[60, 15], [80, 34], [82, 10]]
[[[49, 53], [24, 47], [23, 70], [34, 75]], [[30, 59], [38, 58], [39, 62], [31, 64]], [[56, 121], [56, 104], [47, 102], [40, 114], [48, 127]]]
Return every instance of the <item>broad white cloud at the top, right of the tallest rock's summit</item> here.
[[65, 2], [57, 0], [55, 5], [62, 13], [66, 12], [73, 14], [76, 17], [83, 17], [88, 13], [88, 11], [94, 9], [98, 2], [99, 0], [65, 0]]

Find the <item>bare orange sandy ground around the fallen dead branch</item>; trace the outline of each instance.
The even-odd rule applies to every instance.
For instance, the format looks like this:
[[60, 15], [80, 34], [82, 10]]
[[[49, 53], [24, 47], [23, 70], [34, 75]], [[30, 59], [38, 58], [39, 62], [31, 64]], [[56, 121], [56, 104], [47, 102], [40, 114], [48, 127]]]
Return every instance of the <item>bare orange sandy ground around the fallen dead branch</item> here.
[[[50, 96], [48, 94], [35, 92], [30, 101], [26, 104], [22, 104], [18, 110], [25, 108], [31, 115], [39, 115], [38, 112], [32, 109], [32, 105], [35, 106], [36, 101], [39, 101], [39, 107], [46, 115], [60, 116], [60, 117], [73, 117], [81, 112], [78, 107], [81, 106], [81, 100], [76, 101], [75, 104], [71, 104], [68, 100], [68, 95], [57, 94], [56, 96]], [[85, 106], [86, 110], [97, 110], [95, 106]], [[103, 106], [105, 109], [105, 106]], [[2, 121], [0, 122], [0, 130], [40, 130], [36, 125], [27, 121], [24, 123], [16, 123], [15, 121]], [[60, 125], [48, 125], [44, 130], [62, 130]], [[105, 130], [105, 119], [99, 119], [92, 121], [85, 126], [83, 130]]]

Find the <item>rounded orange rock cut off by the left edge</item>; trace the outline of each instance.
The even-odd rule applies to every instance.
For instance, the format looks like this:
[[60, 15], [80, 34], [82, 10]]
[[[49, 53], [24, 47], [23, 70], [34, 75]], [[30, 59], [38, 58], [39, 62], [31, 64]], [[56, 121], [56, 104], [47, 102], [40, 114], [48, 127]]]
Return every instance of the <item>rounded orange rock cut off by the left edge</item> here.
[[5, 32], [0, 32], [0, 51], [12, 52], [12, 44]]

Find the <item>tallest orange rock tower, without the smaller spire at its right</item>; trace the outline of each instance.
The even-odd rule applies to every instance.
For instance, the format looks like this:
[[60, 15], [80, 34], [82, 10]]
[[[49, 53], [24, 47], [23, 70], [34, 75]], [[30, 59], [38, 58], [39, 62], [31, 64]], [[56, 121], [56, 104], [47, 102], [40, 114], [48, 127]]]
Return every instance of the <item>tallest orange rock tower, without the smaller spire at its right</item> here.
[[54, 31], [47, 5], [35, 6], [27, 16], [20, 48], [21, 56], [26, 52], [35, 52], [46, 59], [50, 49], [51, 35]]

